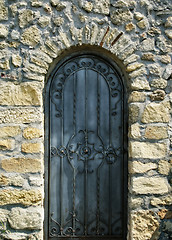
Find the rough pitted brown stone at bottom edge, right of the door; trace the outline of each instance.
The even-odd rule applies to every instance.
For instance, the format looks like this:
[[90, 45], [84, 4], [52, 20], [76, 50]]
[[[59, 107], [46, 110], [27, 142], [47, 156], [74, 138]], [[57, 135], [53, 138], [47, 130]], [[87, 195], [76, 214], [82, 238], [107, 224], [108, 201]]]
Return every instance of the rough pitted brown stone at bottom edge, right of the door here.
[[159, 229], [159, 222], [155, 218], [155, 214], [149, 210], [133, 212], [132, 221], [132, 239], [133, 240], [148, 240], [158, 239], [156, 234]]

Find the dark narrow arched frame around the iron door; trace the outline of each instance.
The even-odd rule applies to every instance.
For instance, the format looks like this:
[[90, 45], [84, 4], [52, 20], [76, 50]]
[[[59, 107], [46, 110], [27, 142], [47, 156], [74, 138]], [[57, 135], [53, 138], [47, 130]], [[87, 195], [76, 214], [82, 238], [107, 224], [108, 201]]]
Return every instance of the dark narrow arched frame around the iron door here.
[[[81, 49], [81, 50], [80, 50]], [[79, 51], [80, 50], [80, 51]], [[58, 59], [56, 59], [52, 66], [49, 69], [47, 74], [47, 81], [46, 86], [44, 88], [44, 239], [45, 240], [55, 240], [57, 238], [49, 238], [48, 237], [48, 225], [49, 225], [49, 159], [50, 159], [50, 152], [49, 152], [49, 145], [50, 145], [50, 121], [49, 121], [49, 100], [50, 100], [50, 85], [53, 79], [54, 74], [58, 71], [58, 69], [69, 59], [73, 57], [82, 56], [84, 54], [89, 54], [93, 56], [97, 56], [102, 58], [104, 61], [109, 63], [114, 69], [116, 70], [117, 74], [119, 75], [124, 90], [124, 99], [123, 99], [123, 126], [124, 126], [124, 161], [123, 161], [123, 208], [124, 210], [124, 230], [123, 230], [123, 239], [116, 240], [126, 240], [127, 239], [127, 222], [128, 222], [128, 107], [127, 107], [127, 99], [128, 99], [128, 86], [127, 86], [127, 76], [125, 71], [123, 70], [124, 67], [122, 66], [121, 62], [110, 54], [106, 50], [92, 49], [89, 46], [76, 47], [73, 51], [66, 51], [64, 54], [61, 54]], [[92, 238], [92, 237], [91, 237]], [[90, 238], [90, 239], [91, 239]], [[101, 238], [99, 236], [99, 238]], [[70, 239], [70, 238], [69, 238]], [[78, 238], [79, 239], [89, 239], [89, 237]], [[93, 238], [92, 238], [93, 239]], [[113, 237], [111, 237], [113, 239]]]

